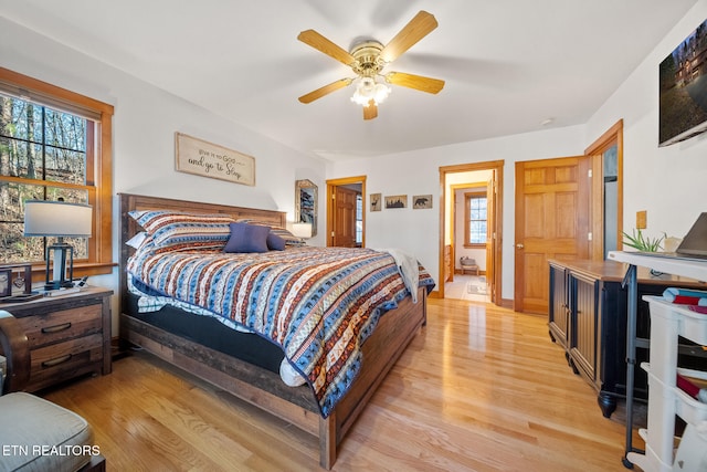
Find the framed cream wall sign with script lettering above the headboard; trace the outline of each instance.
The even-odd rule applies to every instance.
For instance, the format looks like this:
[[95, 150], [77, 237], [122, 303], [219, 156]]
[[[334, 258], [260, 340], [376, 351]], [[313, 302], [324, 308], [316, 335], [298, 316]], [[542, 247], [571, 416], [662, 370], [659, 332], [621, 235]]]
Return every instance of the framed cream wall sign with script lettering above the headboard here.
[[255, 158], [182, 133], [175, 133], [178, 171], [255, 186]]

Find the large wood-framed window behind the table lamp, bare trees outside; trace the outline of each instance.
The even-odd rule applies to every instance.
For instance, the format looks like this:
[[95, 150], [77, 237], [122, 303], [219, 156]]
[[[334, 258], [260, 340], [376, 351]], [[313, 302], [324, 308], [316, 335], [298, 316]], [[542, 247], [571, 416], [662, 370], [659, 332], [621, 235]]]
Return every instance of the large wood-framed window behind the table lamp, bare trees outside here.
[[[0, 67], [0, 264], [36, 263], [46, 238], [27, 238], [24, 201], [93, 207], [93, 235], [74, 247], [75, 275], [112, 271], [113, 107]], [[51, 241], [50, 241], [51, 242]]]

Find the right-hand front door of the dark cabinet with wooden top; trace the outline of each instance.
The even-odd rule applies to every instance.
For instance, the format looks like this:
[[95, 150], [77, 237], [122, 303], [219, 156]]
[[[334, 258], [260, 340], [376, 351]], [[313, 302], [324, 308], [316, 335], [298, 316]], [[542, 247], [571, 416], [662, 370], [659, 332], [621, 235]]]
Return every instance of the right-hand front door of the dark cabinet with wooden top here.
[[599, 281], [571, 273], [569, 283], [570, 358], [574, 367], [594, 384]]

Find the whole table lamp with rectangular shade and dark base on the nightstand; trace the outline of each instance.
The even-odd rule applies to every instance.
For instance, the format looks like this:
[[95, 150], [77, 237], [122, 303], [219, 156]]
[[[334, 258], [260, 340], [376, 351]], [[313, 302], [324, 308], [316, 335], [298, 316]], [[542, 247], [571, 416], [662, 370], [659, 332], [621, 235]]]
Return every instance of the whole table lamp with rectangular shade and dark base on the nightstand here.
[[[72, 287], [74, 283], [74, 248], [64, 238], [88, 238], [92, 233], [92, 208], [65, 201], [28, 200], [24, 202], [24, 235], [56, 237], [46, 247], [46, 283], [44, 290]], [[53, 280], [50, 281], [51, 253], [54, 251]], [[67, 265], [68, 258], [68, 265]], [[68, 269], [68, 276], [66, 270]]]

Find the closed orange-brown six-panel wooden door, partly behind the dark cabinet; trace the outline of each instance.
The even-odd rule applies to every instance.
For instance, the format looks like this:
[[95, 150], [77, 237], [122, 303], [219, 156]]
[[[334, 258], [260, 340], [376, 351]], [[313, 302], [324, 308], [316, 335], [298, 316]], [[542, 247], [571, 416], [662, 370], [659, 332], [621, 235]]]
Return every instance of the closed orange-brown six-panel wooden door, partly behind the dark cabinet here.
[[548, 313], [548, 260], [589, 255], [590, 159], [516, 162], [514, 310]]

